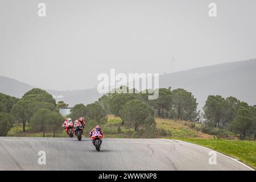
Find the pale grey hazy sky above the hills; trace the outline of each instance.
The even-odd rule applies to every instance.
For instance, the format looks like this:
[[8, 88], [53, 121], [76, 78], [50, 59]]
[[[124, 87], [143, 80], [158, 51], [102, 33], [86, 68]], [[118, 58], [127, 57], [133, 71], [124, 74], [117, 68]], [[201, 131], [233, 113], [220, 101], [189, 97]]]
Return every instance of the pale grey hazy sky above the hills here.
[[256, 57], [255, 0], [0, 2], [0, 76], [44, 89], [92, 88], [110, 68], [169, 73], [173, 54], [174, 71]]

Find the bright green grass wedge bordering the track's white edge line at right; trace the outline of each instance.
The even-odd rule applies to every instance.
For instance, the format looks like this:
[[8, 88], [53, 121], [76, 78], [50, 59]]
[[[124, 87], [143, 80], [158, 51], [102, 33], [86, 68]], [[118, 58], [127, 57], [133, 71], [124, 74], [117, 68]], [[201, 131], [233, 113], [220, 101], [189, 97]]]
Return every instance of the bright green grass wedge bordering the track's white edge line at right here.
[[200, 138], [172, 138], [211, 148], [256, 169], [256, 141]]

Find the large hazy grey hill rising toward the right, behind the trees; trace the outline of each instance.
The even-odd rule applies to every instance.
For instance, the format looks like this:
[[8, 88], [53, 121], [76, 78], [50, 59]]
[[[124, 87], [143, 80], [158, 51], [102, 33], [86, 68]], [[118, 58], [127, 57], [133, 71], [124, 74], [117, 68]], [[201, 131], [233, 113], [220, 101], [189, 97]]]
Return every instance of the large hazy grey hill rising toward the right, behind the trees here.
[[184, 88], [203, 107], [209, 95], [234, 96], [256, 105], [256, 59], [189, 69], [162, 75], [160, 87]]

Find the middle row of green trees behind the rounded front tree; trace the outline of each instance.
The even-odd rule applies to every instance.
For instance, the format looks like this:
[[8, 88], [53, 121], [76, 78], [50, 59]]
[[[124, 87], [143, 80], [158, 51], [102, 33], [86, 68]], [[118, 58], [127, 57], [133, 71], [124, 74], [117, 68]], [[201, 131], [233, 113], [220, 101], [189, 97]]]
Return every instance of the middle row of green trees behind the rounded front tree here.
[[[122, 88], [121, 88], [122, 89]], [[171, 118], [179, 120], [194, 121], [197, 117], [197, 102], [191, 92], [184, 89], [160, 88], [159, 97], [156, 100], [148, 100], [148, 90], [144, 92], [130, 94], [108, 93], [99, 98], [98, 102], [104, 107], [107, 113], [112, 113], [123, 118], [123, 107], [131, 100], [142, 101], [150, 106], [155, 117]], [[128, 104], [127, 104], [128, 105]], [[128, 106], [125, 108], [127, 109]]]

